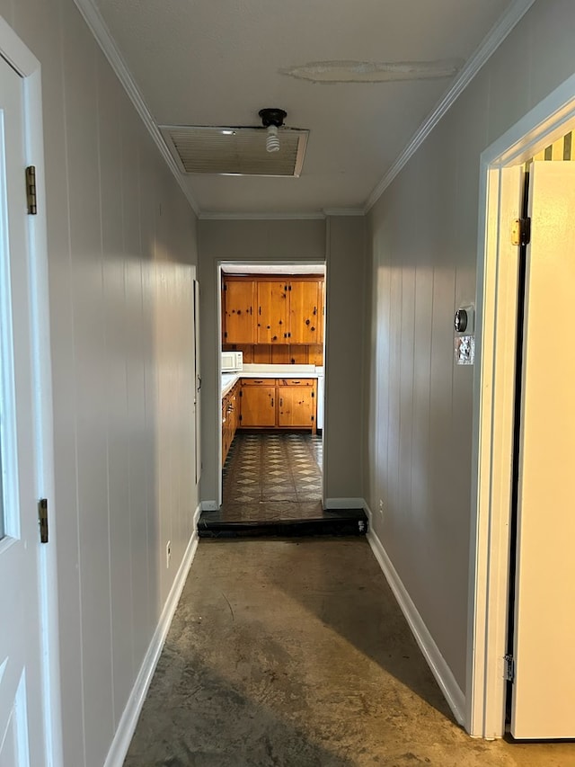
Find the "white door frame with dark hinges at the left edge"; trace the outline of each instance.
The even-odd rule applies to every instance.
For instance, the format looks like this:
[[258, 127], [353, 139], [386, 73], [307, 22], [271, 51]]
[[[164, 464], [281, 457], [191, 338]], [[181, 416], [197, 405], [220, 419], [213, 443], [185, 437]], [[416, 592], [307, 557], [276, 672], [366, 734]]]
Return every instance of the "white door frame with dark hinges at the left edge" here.
[[[0, 16], [0, 54], [22, 76], [26, 107], [24, 147], [36, 167], [38, 213], [27, 221], [30, 258], [33, 423], [36, 426], [36, 495], [54, 502], [54, 440], [52, 423], [52, 373], [49, 333], [48, 229], [44, 174], [44, 131], [40, 61]], [[23, 178], [22, 178], [23, 183]], [[60, 705], [60, 668], [57, 623], [57, 546], [54, 514], [50, 542], [39, 555], [40, 634], [42, 651], [42, 697], [44, 738], [50, 767], [63, 762]]]

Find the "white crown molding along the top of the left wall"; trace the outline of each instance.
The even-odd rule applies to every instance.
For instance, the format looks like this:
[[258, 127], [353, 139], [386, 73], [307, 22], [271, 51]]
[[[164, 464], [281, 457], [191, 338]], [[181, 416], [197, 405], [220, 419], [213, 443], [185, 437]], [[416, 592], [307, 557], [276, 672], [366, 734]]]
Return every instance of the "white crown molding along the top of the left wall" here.
[[181, 191], [190, 203], [192, 210], [196, 216], [199, 217], [199, 205], [192, 197], [191, 192], [185, 183], [185, 179], [181, 175], [180, 168], [176, 165], [173, 156], [170, 154], [170, 150], [166, 147], [164, 138], [160, 133], [160, 129], [157, 127], [152, 112], [148, 109], [144, 97], [140, 93], [134, 78], [131, 76], [126, 62], [119, 52], [119, 48], [113, 40], [106, 22], [104, 22], [102, 18], [102, 14], [93, 4], [93, 0], [74, 0], [74, 2], [84, 17], [84, 22], [86, 22], [98, 45], [102, 49], [104, 56], [110, 62], [111, 68], [114, 70], [119, 82], [128, 94], [130, 101], [136, 107], [140, 119], [146, 126], [150, 136], [154, 139], [156, 147], [160, 150], [160, 154], [164, 157], [166, 165], [168, 165], [172, 171], [173, 177], [178, 182]]

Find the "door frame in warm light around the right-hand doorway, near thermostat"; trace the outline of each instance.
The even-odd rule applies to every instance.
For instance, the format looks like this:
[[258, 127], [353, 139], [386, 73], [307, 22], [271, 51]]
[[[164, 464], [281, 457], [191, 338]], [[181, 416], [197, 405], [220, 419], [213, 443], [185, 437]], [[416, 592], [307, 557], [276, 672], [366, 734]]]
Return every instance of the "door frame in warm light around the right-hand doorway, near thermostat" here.
[[520, 169], [575, 125], [575, 75], [481, 156], [477, 258], [477, 364], [473, 371], [473, 486], [465, 728], [505, 734], [517, 246]]

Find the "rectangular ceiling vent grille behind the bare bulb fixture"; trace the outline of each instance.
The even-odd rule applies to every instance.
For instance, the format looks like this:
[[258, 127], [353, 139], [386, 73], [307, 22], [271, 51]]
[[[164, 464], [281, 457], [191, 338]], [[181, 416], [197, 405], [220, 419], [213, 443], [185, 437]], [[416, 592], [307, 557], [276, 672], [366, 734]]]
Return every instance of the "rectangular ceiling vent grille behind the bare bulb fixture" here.
[[185, 174], [299, 176], [308, 130], [280, 128], [279, 152], [266, 151], [264, 128], [161, 125], [173, 158]]

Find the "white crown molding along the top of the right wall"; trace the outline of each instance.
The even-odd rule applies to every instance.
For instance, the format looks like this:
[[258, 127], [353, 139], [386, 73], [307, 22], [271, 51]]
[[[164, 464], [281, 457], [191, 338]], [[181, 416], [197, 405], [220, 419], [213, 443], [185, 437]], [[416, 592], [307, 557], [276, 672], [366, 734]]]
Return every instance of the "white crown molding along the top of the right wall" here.
[[460, 70], [456, 79], [447, 93], [440, 99], [434, 109], [429, 113], [420, 128], [411, 137], [409, 144], [403, 149], [403, 152], [397, 157], [394, 165], [387, 171], [376, 188], [369, 195], [364, 212], [367, 213], [376, 204], [387, 187], [394, 181], [394, 178], [407, 164], [411, 156], [420, 148], [421, 144], [428, 138], [429, 133], [435, 128], [439, 120], [445, 115], [447, 110], [456, 102], [456, 99], [471, 83], [473, 77], [477, 75], [483, 64], [491, 58], [493, 53], [500, 47], [500, 44], [507, 38], [509, 32], [521, 21], [529, 8], [535, 3], [535, 0], [515, 0], [509, 5], [509, 8], [500, 17], [500, 20], [491, 28], [487, 36], [482, 40], [479, 48], [475, 50], [473, 56], [469, 58], [464, 67]]

